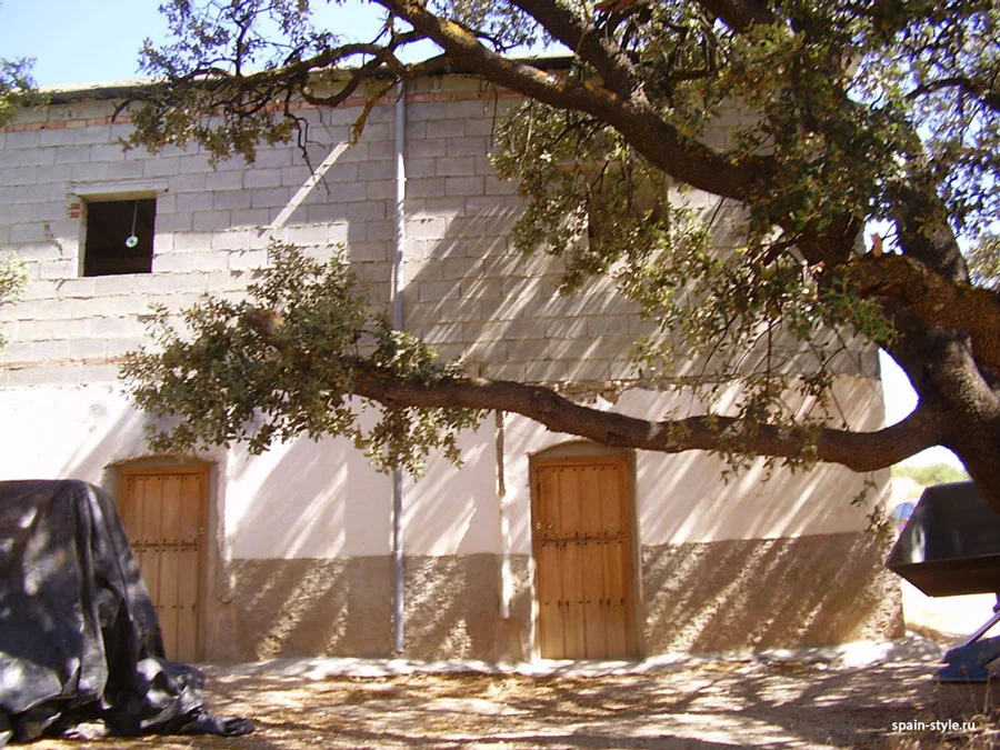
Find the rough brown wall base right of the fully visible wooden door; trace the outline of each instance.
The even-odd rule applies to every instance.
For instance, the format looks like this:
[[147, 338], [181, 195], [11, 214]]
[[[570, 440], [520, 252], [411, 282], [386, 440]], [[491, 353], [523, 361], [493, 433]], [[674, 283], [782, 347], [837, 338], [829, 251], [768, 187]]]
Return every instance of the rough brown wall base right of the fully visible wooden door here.
[[647, 653], [900, 638], [887, 553], [864, 532], [644, 547]]

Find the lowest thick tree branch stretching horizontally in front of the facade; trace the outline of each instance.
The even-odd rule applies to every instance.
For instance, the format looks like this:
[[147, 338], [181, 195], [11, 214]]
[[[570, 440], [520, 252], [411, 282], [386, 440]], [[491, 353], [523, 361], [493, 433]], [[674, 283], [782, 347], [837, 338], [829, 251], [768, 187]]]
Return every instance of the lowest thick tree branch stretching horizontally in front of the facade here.
[[499, 409], [541, 422], [553, 432], [590, 438], [620, 446], [679, 453], [687, 450], [723, 450], [739, 443], [741, 452], [774, 458], [802, 457], [814, 440], [814, 457], [856, 471], [881, 469], [940, 441], [938, 421], [918, 410], [892, 427], [876, 432], [819, 428], [797, 434], [768, 424], [748, 430], [740, 420], [726, 417], [690, 417], [652, 421], [580, 406], [548, 388], [481, 378], [408, 382], [374, 371], [356, 370], [352, 390], [389, 408]]

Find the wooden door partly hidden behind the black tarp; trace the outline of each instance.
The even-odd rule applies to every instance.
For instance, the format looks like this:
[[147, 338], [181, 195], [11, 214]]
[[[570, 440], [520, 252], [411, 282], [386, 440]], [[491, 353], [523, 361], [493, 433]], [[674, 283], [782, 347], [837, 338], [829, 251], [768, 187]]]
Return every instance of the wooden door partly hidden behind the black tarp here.
[[118, 504], [157, 608], [167, 657], [198, 661], [208, 471], [200, 467], [126, 470]]

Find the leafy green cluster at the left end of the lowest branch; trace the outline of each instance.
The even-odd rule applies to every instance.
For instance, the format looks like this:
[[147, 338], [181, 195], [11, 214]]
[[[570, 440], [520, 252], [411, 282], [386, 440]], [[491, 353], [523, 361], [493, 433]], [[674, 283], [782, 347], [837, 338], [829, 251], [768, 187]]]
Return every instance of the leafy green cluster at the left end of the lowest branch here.
[[419, 472], [436, 448], [458, 461], [456, 436], [479, 422], [477, 410], [390, 407], [362, 427], [371, 401], [352, 398], [361, 373], [420, 383], [454, 371], [392, 330], [341, 258], [323, 263], [277, 242], [269, 251], [271, 266], [247, 299], [207, 298], [180, 321], [163, 308], [149, 319], [156, 348], [133, 352], [122, 377], [137, 403], [163, 418], [153, 449], [246, 440], [260, 453], [274, 440], [330, 434], [352, 440], [376, 467]]

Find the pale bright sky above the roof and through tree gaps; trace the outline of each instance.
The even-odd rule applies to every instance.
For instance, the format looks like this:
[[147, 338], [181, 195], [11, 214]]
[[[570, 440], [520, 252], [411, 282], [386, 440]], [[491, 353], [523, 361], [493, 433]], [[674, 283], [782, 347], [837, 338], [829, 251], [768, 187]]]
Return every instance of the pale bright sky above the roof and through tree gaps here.
[[[147, 38], [162, 41], [167, 24], [160, 17], [160, 0], [108, 1], [81, 4], [80, 0], [0, 0], [0, 58], [36, 59], [34, 77], [40, 86], [72, 86], [137, 78], [139, 50]], [[352, 36], [377, 27], [374, 14], [357, 0], [337, 13]], [[913, 408], [916, 396], [902, 371], [882, 358], [887, 411], [890, 422]], [[934, 450], [922, 461], [954, 461], [952, 454]]]

